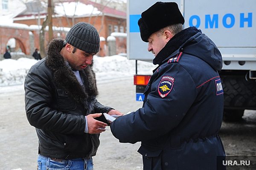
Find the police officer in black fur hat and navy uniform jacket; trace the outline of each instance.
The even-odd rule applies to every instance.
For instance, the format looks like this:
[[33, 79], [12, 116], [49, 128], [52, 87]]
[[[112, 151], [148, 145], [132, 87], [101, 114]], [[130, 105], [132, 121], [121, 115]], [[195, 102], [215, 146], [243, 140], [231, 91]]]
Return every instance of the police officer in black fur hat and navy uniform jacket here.
[[216, 170], [225, 151], [218, 132], [224, 96], [221, 53], [201, 30], [183, 29], [177, 3], [157, 2], [141, 14], [140, 36], [158, 67], [143, 107], [111, 123], [119, 142], [141, 142], [144, 170]]

